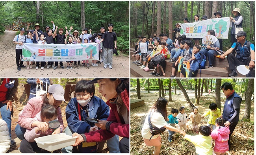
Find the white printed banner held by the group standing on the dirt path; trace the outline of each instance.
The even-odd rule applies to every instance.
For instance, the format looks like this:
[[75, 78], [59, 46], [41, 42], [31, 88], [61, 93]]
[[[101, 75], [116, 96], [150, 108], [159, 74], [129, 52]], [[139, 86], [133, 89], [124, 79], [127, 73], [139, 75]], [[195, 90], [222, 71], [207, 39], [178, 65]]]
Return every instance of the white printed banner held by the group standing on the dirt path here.
[[22, 46], [22, 61], [98, 60], [97, 43], [27, 44]]

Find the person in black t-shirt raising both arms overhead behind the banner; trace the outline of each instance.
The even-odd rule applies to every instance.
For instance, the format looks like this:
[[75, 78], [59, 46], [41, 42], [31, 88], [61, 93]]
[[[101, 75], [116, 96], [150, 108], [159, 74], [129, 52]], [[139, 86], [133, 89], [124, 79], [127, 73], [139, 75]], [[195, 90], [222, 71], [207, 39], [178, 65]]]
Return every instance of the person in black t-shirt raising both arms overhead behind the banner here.
[[[63, 34], [63, 28], [60, 28], [60, 29], [59, 29], [59, 33], [57, 34], [58, 26], [56, 26], [56, 29], [55, 29], [55, 31], [54, 31], [54, 35], [55, 35], [55, 37], [56, 37], [56, 44], [64, 44], [65, 38], [66, 38], [67, 35], [69, 34], [68, 29], [67, 29], [67, 26], [65, 26], [65, 29], [66, 29], [66, 34], [65, 34], [65, 35]], [[53, 69], [54, 69], [54, 70], [57, 69], [58, 63], [59, 63], [59, 65], [60, 65], [60, 67], [61, 67], [62, 69], [64, 69], [63, 62], [62, 62], [62, 61], [60, 61], [60, 62], [55, 61], [55, 66], [54, 66]]]

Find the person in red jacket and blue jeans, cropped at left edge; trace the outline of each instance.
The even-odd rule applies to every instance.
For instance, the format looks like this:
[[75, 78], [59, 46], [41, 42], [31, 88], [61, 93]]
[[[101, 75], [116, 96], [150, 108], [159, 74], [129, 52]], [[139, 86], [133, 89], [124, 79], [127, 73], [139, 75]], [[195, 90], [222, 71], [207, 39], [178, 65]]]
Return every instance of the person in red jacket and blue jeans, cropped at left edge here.
[[18, 85], [18, 79], [0, 79], [0, 112], [9, 129], [11, 146], [16, 144], [11, 138], [11, 115], [13, 115], [13, 100], [15, 99]]

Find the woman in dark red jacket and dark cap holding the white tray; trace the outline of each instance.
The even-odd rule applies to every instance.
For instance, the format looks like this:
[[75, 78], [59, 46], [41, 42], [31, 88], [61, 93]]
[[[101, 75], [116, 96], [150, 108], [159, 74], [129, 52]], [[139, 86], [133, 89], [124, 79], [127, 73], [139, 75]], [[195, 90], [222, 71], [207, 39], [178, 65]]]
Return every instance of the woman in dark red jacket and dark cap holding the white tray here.
[[77, 146], [79, 143], [97, 142], [109, 139], [114, 135], [124, 137], [119, 142], [121, 153], [129, 153], [130, 119], [129, 119], [129, 79], [93, 79], [87, 84], [99, 84], [99, 92], [108, 101], [106, 104], [111, 108], [107, 120], [99, 120], [95, 125], [100, 130], [85, 134], [74, 133]]

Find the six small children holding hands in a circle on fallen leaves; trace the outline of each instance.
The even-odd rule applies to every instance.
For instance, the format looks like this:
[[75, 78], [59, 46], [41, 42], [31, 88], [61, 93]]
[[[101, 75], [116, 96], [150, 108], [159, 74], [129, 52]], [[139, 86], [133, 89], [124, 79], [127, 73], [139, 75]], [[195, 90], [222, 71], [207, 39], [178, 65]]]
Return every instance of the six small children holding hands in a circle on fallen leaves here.
[[[171, 114], [168, 116], [167, 123], [175, 127], [178, 124], [179, 129], [184, 129], [187, 132], [187, 121], [191, 120], [193, 125], [193, 131], [199, 133], [199, 135], [191, 136], [184, 134], [184, 138], [195, 145], [196, 152], [204, 155], [212, 155], [212, 139], [215, 140], [214, 153], [216, 155], [224, 155], [229, 150], [228, 140], [230, 130], [229, 127], [225, 127], [224, 119], [221, 117], [221, 111], [217, 108], [216, 103], [211, 103], [209, 110], [204, 113], [198, 113], [197, 107], [193, 108], [193, 112], [187, 116], [185, 113], [185, 107], [180, 107], [180, 113], [178, 109], [172, 109]], [[209, 115], [207, 125], [198, 127], [201, 122], [201, 118]], [[211, 127], [213, 131], [211, 131]], [[169, 142], [172, 141], [172, 136], [175, 132], [169, 131]]]

